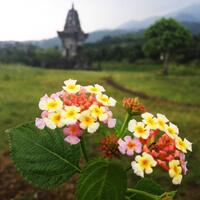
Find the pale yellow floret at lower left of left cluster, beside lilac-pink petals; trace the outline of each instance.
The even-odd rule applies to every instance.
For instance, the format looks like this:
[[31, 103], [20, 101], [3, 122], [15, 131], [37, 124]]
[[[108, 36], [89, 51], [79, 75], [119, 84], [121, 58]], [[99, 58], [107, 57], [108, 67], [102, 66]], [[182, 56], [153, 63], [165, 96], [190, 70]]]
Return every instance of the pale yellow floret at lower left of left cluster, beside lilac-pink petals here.
[[50, 129], [55, 129], [56, 127], [62, 128], [65, 125], [61, 112], [50, 113], [44, 121]]

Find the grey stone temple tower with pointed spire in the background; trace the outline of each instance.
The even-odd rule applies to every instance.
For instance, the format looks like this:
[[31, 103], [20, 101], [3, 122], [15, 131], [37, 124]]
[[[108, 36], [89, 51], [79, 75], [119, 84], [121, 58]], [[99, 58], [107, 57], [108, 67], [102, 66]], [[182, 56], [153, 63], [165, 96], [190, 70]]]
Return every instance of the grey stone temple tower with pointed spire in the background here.
[[78, 12], [72, 8], [67, 14], [64, 30], [58, 31], [58, 36], [62, 43], [62, 55], [70, 60], [81, 53], [81, 48], [88, 37], [81, 29]]

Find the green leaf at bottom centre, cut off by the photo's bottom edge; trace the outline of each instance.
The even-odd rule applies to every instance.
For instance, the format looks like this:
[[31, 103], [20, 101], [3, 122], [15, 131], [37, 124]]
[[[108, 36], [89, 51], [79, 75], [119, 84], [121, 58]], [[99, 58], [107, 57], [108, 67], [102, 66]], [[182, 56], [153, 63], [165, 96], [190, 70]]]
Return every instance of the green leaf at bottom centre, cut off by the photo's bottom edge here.
[[122, 200], [127, 187], [124, 169], [106, 159], [90, 161], [77, 184], [78, 200]]

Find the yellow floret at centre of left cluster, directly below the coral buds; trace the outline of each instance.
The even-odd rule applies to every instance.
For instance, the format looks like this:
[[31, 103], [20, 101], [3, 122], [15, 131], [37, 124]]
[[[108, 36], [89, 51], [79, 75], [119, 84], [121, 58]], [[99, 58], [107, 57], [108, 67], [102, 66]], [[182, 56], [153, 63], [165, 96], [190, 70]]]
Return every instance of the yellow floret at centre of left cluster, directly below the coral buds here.
[[77, 106], [65, 106], [63, 117], [67, 125], [75, 124], [80, 117], [80, 108]]

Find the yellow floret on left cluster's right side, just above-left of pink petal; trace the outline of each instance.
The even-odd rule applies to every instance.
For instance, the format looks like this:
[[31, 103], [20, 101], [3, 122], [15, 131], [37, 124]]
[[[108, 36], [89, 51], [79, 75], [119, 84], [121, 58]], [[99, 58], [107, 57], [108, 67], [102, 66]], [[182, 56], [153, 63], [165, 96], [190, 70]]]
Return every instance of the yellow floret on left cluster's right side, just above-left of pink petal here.
[[100, 121], [105, 121], [108, 118], [106, 109], [102, 106], [92, 105], [89, 110], [91, 111], [91, 116]]

